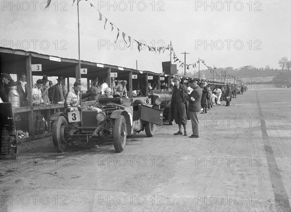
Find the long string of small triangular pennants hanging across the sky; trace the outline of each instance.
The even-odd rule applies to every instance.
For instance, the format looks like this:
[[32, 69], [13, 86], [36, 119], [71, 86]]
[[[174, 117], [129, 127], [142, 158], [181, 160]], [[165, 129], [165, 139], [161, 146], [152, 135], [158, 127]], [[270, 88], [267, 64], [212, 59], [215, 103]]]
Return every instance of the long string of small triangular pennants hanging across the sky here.
[[[73, 4], [72, 4], [72, 6], [74, 5], [74, 3], [75, 3], [75, 1], [76, 0], [73, 0]], [[80, 2], [81, 0], [78, 0], [77, 1], [77, 4]], [[120, 33], [122, 34], [122, 38], [123, 38], [123, 40], [125, 41], [125, 43], [126, 44], [128, 44], [128, 42], [129, 42], [129, 46], [127, 47], [127, 48], [129, 48], [130, 47], [130, 43], [131, 43], [131, 41], [132, 40], [134, 40], [136, 43], [137, 43], [137, 49], [138, 49], [138, 51], [140, 52], [141, 51], [141, 49], [143, 48], [143, 47], [146, 47], [149, 51], [155, 51], [155, 53], [157, 53], [157, 51], [159, 52], [159, 53], [164, 53], [164, 51], [165, 50], [169, 50], [169, 49], [171, 49], [172, 51], [173, 51], [173, 59], [174, 59], [174, 63], [176, 63], [176, 62], [178, 62], [178, 63], [180, 63], [180, 65], [179, 65], [179, 67], [184, 67], [184, 65], [186, 65], [186, 68], [189, 70], [189, 68], [190, 67], [193, 67], [193, 68], [196, 68], [196, 65], [197, 64], [199, 64], [200, 62], [202, 63], [202, 64], [204, 64], [209, 70], [210, 70], [210, 73], [212, 74], [213, 72], [215, 72], [215, 74], [216, 74], [216, 76], [220, 76], [220, 75], [218, 75], [217, 74], [217, 72], [216, 72], [216, 67], [214, 66], [213, 68], [212, 67], [210, 67], [210, 66], [208, 66], [208, 65], [206, 65], [205, 64], [205, 61], [204, 60], [201, 60], [201, 59], [199, 59], [197, 62], [195, 62], [195, 63], [193, 63], [193, 64], [184, 64], [181, 60], [179, 60], [178, 59], [178, 57], [177, 57], [177, 55], [175, 54], [175, 51], [174, 51], [174, 49], [173, 49], [173, 46], [170, 46], [170, 45], [167, 45], [167, 46], [163, 46], [163, 47], [152, 47], [152, 46], [148, 46], [148, 45], [146, 45], [146, 44], [144, 44], [144, 43], [142, 43], [142, 42], [139, 42], [139, 41], [137, 41], [136, 39], [134, 39], [134, 38], [132, 38], [131, 36], [129, 36], [127, 33], [125, 33], [125, 32], [123, 32], [122, 30], [120, 30], [120, 28], [118, 28], [115, 24], [113, 24], [113, 22], [111, 22], [111, 21], [109, 21], [109, 19], [106, 17], [106, 16], [104, 16], [89, 0], [86, 0], [88, 3], [90, 3], [90, 6], [91, 7], [93, 7], [94, 9], [96, 9], [97, 10], [97, 12], [99, 13], [99, 18], [98, 18], [98, 20], [99, 21], [102, 21], [103, 20], [103, 18], [105, 19], [105, 21], [104, 21], [104, 30], [106, 30], [106, 25], [107, 25], [107, 23], [109, 23], [110, 25], [111, 25], [111, 32], [113, 32], [113, 30], [114, 30], [114, 28], [116, 28], [117, 29], [117, 35], [116, 35], [116, 40], [115, 40], [115, 42], [114, 42], [114, 44], [116, 43], [116, 41], [118, 40], [118, 37], [119, 37], [119, 35], [120, 35]], [[47, 6], [46, 6], [46, 8], [48, 8], [49, 7], [49, 4], [50, 4], [50, 2], [51, 2], [51, 0], [47, 0]], [[128, 37], [128, 42], [127, 42], [127, 40], [126, 40], [126, 36]], [[225, 74], [224, 73], [221, 73], [221, 75], [222, 76], [225, 76]], [[226, 74], [227, 75], [227, 74]], [[228, 77], [233, 77], [233, 78], [235, 78], [235, 76], [232, 76], [232, 75], [229, 75], [228, 74]]]

